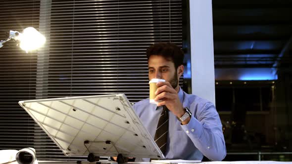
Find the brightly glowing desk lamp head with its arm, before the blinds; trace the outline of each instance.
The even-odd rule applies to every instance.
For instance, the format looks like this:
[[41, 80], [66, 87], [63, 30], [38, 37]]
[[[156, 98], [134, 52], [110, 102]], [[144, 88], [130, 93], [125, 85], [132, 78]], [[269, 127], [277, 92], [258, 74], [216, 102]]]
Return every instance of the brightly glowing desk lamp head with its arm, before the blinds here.
[[10, 31], [9, 38], [0, 42], [0, 47], [3, 43], [9, 40], [20, 41], [20, 48], [26, 52], [40, 48], [45, 44], [46, 38], [33, 27], [28, 27], [23, 30], [23, 33], [17, 31]]

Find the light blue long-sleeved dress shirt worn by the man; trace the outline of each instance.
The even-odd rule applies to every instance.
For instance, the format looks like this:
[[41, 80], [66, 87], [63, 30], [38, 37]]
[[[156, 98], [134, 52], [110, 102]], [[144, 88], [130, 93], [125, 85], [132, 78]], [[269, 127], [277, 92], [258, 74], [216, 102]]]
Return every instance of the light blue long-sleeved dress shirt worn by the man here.
[[[193, 115], [188, 124], [182, 125], [169, 111], [165, 159], [202, 160], [204, 155], [211, 161], [223, 160], [226, 147], [215, 106], [205, 99], [187, 94], [181, 88], [178, 95], [183, 106], [189, 108]], [[149, 98], [137, 102], [133, 107], [154, 138], [162, 107], [157, 108], [155, 104], [150, 104]]]

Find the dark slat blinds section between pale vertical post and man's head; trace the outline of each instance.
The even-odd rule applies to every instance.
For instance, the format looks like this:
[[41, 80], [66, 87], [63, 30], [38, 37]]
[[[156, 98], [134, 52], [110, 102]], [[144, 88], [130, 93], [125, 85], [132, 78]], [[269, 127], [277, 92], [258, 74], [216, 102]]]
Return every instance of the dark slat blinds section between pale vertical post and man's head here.
[[[146, 47], [182, 42], [180, 0], [53, 0], [48, 97], [147, 97]], [[171, 11], [171, 12], [170, 12]]]

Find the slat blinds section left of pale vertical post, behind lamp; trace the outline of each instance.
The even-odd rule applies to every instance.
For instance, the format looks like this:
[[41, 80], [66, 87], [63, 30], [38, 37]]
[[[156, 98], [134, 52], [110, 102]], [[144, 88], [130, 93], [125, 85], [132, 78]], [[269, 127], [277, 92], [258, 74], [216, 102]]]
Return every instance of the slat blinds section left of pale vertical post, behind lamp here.
[[[1, 0], [0, 10], [0, 40], [8, 38], [5, 32], [9, 30], [39, 27], [40, 1]], [[18, 105], [19, 100], [35, 99], [36, 71], [37, 53], [25, 53], [14, 41], [0, 48], [0, 150], [47, 143], [45, 139], [34, 140], [34, 135], [46, 134]]]

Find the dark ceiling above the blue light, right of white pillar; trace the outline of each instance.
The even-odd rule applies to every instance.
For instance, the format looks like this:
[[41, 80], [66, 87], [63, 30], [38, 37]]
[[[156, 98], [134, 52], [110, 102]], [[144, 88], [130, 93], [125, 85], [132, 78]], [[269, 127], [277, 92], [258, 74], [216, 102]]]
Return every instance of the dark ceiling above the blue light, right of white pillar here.
[[215, 68], [292, 65], [289, 52], [281, 55], [292, 49], [292, 0], [212, 0], [212, 4]]

